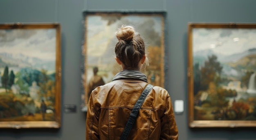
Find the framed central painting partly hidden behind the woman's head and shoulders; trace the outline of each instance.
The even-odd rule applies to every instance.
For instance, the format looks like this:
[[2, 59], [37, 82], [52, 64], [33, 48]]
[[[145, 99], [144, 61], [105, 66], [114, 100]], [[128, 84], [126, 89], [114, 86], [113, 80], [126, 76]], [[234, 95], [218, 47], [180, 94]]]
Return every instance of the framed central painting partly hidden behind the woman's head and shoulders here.
[[91, 91], [111, 82], [122, 70], [115, 61], [115, 32], [122, 25], [135, 27], [144, 39], [150, 63], [141, 72], [146, 74], [150, 84], [164, 87], [163, 13], [86, 12], [84, 18], [82, 111], [87, 111]]

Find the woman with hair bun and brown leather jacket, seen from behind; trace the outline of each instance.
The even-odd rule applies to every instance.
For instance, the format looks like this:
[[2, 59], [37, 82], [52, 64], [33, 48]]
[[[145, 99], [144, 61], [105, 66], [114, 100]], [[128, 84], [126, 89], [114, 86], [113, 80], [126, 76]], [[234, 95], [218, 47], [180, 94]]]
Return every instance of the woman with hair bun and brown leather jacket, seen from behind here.
[[[115, 60], [122, 67], [112, 82], [94, 89], [86, 118], [86, 140], [119, 140], [135, 102], [147, 86], [140, 72], [148, 63], [145, 44], [131, 26], [116, 33]], [[139, 109], [128, 140], [178, 140], [171, 98], [162, 87], [153, 87]]]

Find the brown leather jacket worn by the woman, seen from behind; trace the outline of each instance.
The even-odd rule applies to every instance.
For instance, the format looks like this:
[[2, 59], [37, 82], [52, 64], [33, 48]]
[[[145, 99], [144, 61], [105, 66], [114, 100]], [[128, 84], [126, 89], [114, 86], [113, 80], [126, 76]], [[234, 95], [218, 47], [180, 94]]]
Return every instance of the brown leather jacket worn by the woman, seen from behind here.
[[[86, 140], [119, 140], [131, 110], [148, 83], [115, 80], [91, 93], [86, 119]], [[178, 140], [171, 98], [153, 87], [139, 110], [128, 140]]]

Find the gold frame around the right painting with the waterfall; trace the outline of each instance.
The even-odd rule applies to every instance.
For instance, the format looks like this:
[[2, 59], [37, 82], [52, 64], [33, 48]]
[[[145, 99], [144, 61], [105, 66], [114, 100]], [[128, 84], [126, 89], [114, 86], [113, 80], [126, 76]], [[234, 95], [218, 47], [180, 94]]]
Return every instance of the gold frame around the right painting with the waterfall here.
[[[256, 24], [237, 23], [189, 23], [188, 24], [188, 125], [189, 127], [256, 127], [256, 120], [196, 120], [193, 66], [194, 29], [256, 29]], [[255, 30], [254, 30], [255, 31]], [[256, 44], [255, 44], [256, 45]], [[227, 96], [225, 96], [227, 97]]]

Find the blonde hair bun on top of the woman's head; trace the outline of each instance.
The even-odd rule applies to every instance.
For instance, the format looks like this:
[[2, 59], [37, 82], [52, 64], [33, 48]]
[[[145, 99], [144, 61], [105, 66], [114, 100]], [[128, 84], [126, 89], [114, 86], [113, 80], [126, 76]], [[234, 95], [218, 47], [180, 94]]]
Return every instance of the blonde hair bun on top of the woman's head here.
[[119, 29], [119, 31], [116, 32], [117, 39], [119, 41], [124, 41], [126, 43], [130, 43], [135, 35], [135, 29], [132, 26], [126, 26], [124, 25]]

